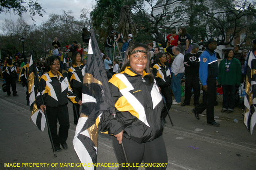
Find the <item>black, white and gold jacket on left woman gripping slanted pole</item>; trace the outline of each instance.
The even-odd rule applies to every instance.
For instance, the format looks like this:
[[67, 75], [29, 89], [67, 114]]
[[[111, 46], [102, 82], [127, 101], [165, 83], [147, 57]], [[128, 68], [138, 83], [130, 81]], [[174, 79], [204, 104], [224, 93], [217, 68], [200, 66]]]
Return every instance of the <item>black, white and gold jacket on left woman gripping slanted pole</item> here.
[[[72, 93], [68, 78], [65, 75], [53, 75], [51, 71], [41, 76], [39, 80], [44, 103], [46, 106], [59, 107], [68, 104], [68, 99], [73, 103], [78, 103], [79, 98]], [[40, 92], [38, 90], [35, 103], [39, 108], [42, 105]]]

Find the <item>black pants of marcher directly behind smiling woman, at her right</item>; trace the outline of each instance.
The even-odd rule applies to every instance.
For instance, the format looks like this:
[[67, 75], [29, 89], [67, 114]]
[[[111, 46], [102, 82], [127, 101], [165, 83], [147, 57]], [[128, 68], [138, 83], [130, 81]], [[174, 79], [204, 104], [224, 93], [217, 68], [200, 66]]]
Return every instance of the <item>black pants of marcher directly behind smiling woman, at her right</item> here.
[[173, 99], [172, 99], [172, 94], [171, 94], [168, 86], [162, 86], [161, 93], [165, 97], [166, 107], [167, 107], [167, 110], [166, 110], [165, 106], [163, 107], [161, 118], [165, 118], [168, 114], [167, 112], [170, 110], [170, 108], [172, 106]]

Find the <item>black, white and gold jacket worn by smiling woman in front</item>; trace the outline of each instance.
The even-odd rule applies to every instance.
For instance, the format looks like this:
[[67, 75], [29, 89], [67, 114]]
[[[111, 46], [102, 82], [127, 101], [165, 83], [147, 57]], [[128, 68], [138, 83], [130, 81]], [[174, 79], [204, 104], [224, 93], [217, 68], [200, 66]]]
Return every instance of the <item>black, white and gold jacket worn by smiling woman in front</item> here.
[[[138, 143], [153, 141], [162, 135], [162, 95], [155, 80], [149, 83], [149, 75], [144, 71], [142, 78], [126, 67], [109, 80], [117, 116], [116, 122], [112, 122], [116, 129], [110, 127], [113, 134], [124, 130], [125, 138]], [[120, 126], [123, 128], [118, 129]]]

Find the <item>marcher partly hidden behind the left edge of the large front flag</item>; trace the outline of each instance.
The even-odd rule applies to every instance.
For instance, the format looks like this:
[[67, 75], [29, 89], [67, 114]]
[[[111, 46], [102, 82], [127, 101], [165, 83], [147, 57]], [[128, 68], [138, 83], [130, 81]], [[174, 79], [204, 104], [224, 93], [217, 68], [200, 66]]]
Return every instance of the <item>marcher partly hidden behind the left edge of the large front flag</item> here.
[[[84, 76], [84, 66], [81, 63], [80, 52], [72, 53], [72, 66], [68, 69], [68, 77], [70, 78], [70, 85], [74, 94], [82, 99], [83, 90], [83, 76]], [[76, 108], [75, 108], [76, 107]], [[77, 124], [79, 118], [79, 105], [73, 104], [74, 111], [74, 123]]]

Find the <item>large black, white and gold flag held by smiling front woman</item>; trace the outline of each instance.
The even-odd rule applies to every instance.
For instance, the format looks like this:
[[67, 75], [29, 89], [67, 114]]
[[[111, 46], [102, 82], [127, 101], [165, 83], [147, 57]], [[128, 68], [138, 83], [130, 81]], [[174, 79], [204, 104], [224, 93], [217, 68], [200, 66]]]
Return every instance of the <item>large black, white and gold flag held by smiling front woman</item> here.
[[[82, 163], [96, 163], [98, 129], [108, 131], [115, 109], [108, 78], [93, 29], [90, 30], [87, 64], [83, 77], [82, 111], [73, 140], [74, 149]], [[86, 167], [94, 170], [96, 167]]]

